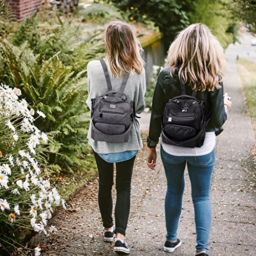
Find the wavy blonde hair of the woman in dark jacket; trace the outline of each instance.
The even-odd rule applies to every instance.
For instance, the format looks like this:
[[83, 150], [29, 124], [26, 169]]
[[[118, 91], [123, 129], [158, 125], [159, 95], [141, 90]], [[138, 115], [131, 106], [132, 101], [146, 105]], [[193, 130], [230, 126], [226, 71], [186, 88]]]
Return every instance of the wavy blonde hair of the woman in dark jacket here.
[[168, 50], [165, 67], [171, 67], [173, 76], [179, 68], [179, 78], [193, 84], [194, 90], [220, 89], [226, 59], [218, 39], [201, 23], [188, 26], [179, 32]]

